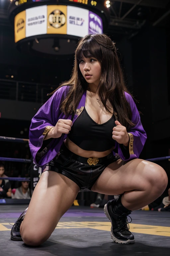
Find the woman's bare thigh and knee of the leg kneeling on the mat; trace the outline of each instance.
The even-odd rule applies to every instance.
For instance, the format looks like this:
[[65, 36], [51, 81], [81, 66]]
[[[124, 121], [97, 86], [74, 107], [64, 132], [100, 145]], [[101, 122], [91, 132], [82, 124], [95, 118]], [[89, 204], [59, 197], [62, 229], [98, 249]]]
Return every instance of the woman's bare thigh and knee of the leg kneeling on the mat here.
[[28, 245], [46, 241], [79, 190], [79, 186], [64, 175], [43, 172], [20, 228], [23, 241]]

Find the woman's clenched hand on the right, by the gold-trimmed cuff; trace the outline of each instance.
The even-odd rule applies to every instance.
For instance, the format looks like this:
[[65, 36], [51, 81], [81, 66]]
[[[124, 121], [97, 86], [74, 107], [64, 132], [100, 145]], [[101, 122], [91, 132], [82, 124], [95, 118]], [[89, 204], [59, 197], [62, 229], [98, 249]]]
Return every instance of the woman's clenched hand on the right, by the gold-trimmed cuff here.
[[119, 121], [115, 121], [116, 126], [113, 128], [112, 139], [116, 140], [120, 144], [128, 146], [129, 136], [126, 127], [121, 125]]

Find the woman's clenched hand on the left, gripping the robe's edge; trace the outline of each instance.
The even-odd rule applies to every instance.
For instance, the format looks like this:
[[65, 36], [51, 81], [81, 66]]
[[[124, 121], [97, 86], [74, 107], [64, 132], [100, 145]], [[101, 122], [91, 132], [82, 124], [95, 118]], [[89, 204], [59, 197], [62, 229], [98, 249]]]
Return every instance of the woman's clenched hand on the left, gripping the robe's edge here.
[[72, 121], [67, 119], [59, 119], [54, 129], [51, 129], [51, 137], [59, 138], [62, 133], [68, 134], [71, 131]]

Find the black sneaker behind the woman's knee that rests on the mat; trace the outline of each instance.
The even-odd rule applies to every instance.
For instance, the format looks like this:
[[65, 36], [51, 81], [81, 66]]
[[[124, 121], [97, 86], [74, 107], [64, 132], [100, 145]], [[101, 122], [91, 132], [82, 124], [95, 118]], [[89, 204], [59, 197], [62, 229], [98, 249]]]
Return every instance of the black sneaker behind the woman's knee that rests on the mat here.
[[15, 222], [14, 226], [11, 229], [11, 240], [13, 241], [23, 241], [20, 235], [20, 226], [25, 217], [27, 209], [20, 215], [20, 217], [18, 218], [18, 220]]

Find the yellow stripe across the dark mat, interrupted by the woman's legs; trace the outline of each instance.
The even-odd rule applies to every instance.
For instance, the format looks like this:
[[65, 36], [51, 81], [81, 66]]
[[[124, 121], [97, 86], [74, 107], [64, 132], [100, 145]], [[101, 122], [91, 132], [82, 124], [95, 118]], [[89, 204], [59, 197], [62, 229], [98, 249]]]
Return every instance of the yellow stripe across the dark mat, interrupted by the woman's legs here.
[[[11, 230], [12, 226], [10, 224], [13, 225], [14, 223], [0, 223], [0, 231]], [[7, 228], [6, 225], [7, 226], [10, 225], [11, 228]], [[170, 227], [133, 224], [133, 223], [130, 223], [129, 226], [130, 226], [130, 231], [132, 233], [170, 237]], [[97, 230], [110, 231], [111, 223], [102, 222], [102, 221], [101, 222], [94, 222], [94, 221], [59, 222], [55, 229], [60, 229], [60, 228], [92, 228]]]

